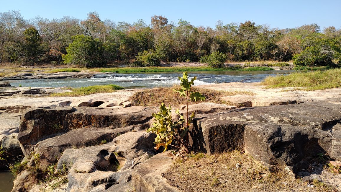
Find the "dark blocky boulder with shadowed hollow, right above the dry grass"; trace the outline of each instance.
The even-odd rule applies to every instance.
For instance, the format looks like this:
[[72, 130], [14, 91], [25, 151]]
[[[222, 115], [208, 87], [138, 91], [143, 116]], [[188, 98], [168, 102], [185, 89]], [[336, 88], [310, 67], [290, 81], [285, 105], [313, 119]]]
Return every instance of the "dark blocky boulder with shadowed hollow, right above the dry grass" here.
[[245, 152], [268, 165], [294, 166], [306, 156], [327, 151], [331, 133], [292, 125], [246, 125]]

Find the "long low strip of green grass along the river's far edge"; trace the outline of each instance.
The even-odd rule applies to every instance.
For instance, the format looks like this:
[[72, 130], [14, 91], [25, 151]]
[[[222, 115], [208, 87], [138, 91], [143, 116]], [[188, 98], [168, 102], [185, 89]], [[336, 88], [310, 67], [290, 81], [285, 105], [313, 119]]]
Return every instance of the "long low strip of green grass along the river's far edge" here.
[[167, 71], [265, 71], [273, 70], [270, 67], [123, 67], [123, 68], [108, 68], [99, 69], [99, 72], [103, 73], [134, 73], [134, 72], [167, 72]]

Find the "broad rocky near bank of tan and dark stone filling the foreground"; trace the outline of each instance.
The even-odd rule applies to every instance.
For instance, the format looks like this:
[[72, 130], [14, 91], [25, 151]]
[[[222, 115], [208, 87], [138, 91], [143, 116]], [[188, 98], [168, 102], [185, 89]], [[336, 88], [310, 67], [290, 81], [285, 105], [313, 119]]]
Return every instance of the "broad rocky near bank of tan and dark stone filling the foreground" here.
[[[262, 189], [259, 191], [269, 191], [273, 187], [287, 190], [293, 183], [299, 186], [297, 190], [303, 191], [340, 188], [340, 174], [331, 172], [333, 169], [329, 170], [328, 163], [341, 160], [338, 150], [341, 143], [341, 88], [305, 91], [297, 87], [266, 88], [259, 83], [242, 82], [198, 87], [223, 91], [216, 98], [217, 103], [211, 100], [189, 106], [190, 112], [197, 114], [196, 128], [192, 129], [193, 147], [207, 153], [200, 158], [208, 161], [209, 165], [215, 165], [214, 159], [221, 158], [210, 155], [226, 154], [226, 158], [235, 158], [228, 157], [231, 154], [226, 152], [239, 150], [241, 155], [238, 156], [243, 158], [233, 159], [237, 162], [233, 162], [233, 166], [228, 165], [227, 170], [232, 171], [231, 175], [243, 175], [244, 171], [252, 175], [248, 170], [263, 172], [254, 175], [259, 182], [256, 180], [253, 186]], [[158, 171], [170, 167], [185, 170], [183, 168], [187, 165], [177, 164], [178, 161], [172, 157], [159, 154], [160, 151], [154, 149], [155, 136], [146, 133], [145, 129], [153, 122], [151, 114], [158, 111], [158, 106], [133, 106], [131, 102], [137, 93], [144, 91], [126, 88], [78, 97], [46, 97], [70, 90], [60, 87], [0, 87], [1, 146], [13, 157], [25, 156], [17, 164], [18, 175], [13, 191], [54, 191], [57, 188], [60, 191], [109, 192], [150, 191], [155, 188], [194, 190], [186, 188], [194, 182], [189, 174], [168, 172], [165, 176]], [[180, 107], [183, 113], [181, 105], [175, 107]], [[321, 163], [315, 160], [319, 153], [325, 154], [328, 161]], [[247, 162], [249, 157], [245, 155], [251, 155], [254, 162]], [[233, 168], [238, 161], [242, 168]], [[200, 167], [207, 167], [207, 163], [194, 162], [198, 165], [195, 172], [205, 174]], [[254, 167], [258, 163], [268, 168]], [[310, 164], [313, 165], [309, 168], [311, 172], [302, 171]], [[328, 169], [324, 169], [325, 165]], [[274, 184], [269, 182], [273, 176], [269, 171], [271, 167], [285, 170], [276, 172], [285, 177], [278, 178]], [[214, 166], [211, 168], [216, 173]], [[224, 185], [229, 182], [229, 177], [214, 173], [210, 177], [210, 183], [214, 181], [211, 187], [238, 189]], [[187, 176], [179, 188], [174, 182], [176, 174]], [[201, 178], [200, 175], [195, 177]], [[297, 183], [296, 178], [304, 181]], [[316, 179], [318, 182], [314, 181]], [[287, 185], [282, 185], [282, 182]], [[311, 187], [321, 183], [329, 187]], [[252, 191], [253, 186], [249, 186], [250, 189], [245, 184], [243, 189]]]

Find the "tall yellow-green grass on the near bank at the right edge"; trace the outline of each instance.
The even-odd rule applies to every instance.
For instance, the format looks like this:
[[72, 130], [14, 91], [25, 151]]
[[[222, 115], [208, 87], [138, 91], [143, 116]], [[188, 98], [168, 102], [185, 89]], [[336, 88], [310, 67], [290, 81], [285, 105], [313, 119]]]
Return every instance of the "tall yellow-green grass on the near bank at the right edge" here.
[[341, 87], [341, 69], [292, 73], [287, 76], [267, 77], [261, 82], [266, 88], [304, 87], [302, 90], [314, 91]]

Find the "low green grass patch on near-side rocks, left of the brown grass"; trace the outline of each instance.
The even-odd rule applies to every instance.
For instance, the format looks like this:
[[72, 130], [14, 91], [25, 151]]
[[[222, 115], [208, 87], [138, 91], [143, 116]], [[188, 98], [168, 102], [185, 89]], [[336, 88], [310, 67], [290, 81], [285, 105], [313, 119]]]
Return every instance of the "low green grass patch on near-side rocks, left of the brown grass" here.
[[90, 95], [95, 93], [112, 93], [116, 90], [122, 90], [124, 87], [118, 85], [92, 85], [87, 87], [72, 88], [72, 92], [53, 93], [50, 97], [77, 97], [83, 95]]

